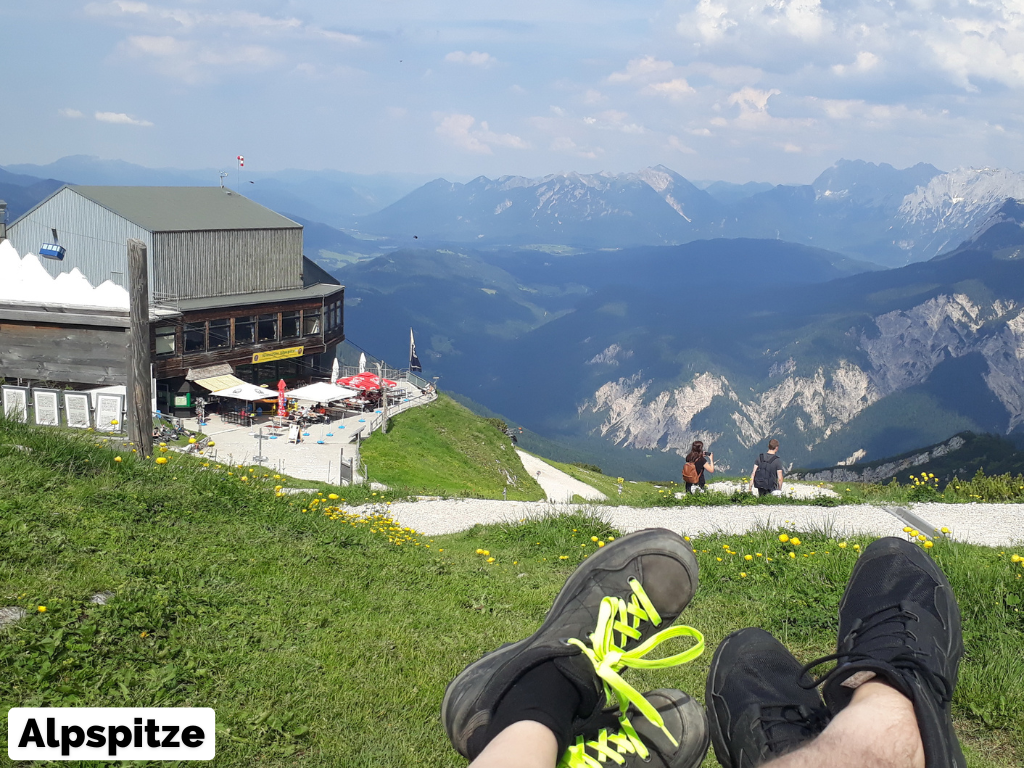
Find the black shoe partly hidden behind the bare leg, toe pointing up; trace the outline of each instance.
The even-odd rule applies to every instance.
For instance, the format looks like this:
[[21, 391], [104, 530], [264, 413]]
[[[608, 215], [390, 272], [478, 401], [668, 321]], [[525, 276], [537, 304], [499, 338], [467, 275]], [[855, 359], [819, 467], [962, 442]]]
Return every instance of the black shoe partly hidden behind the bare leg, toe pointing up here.
[[824, 730], [828, 712], [816, 690], [801, 686], [802, 675], [800, 662], [764, 630], [738, 630], [722, 641], [705, 703], [723, 768], [754, 768]]

